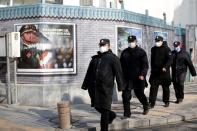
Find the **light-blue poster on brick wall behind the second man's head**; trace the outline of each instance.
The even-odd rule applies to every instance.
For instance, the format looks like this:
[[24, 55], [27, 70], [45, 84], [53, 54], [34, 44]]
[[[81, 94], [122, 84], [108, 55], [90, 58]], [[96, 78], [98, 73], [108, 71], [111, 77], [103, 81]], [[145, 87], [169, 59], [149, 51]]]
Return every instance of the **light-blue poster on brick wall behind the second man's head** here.
[[133, 27], [117, 27], [117, 50], [118, 56], [121, 52], [128, 47], [127, 38], [129, 35], [135, 35], [137, 37], [137, 43], [139, 46], [142, 44], [142, 29]]

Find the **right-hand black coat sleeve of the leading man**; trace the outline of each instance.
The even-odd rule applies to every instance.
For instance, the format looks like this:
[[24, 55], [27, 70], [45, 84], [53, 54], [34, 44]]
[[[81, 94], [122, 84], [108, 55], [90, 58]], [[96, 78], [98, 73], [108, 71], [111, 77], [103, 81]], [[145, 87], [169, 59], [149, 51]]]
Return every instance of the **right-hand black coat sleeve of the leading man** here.
[[120, 60], [117, 56], [114, 57], [114, 63], [112, 64], [112, 67], [113, 67], [113, 72], [116, 77], [118, 91], [122, 91], [124, 90], [125, 86], [124, 86], [123, 73], [122, 73]]

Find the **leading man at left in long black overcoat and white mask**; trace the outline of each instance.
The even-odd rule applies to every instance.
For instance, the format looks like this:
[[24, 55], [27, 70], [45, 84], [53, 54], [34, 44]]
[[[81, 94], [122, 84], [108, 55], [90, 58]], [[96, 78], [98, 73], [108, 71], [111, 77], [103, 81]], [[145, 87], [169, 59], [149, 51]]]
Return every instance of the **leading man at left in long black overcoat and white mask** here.
[[114, 78], [116, 77], [118, 90], [124, 88], [122, 69], [118, 57], [110, 50], [109, 39], [101, 39], [100, 51], [92, 57], [82, 89], [88, 89], [91, 105], [101, 113], [101, 131], [108, 131], [108, 124], [115, 119], [115, 112], [111, 111]]

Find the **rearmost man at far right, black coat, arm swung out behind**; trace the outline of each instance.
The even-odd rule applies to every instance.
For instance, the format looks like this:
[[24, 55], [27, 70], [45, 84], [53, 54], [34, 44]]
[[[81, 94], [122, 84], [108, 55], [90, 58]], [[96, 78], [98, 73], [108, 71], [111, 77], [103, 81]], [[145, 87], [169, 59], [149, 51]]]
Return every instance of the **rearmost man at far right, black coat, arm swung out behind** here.
[[187, 68], [189, 67], [189, 71], [192, 76], [196, 76], [196, 70], [189, 54], [185, 50], [181, 49], [181, 43], [179, 41], [175, 41], [173, 46], [172, 82], [177, 99], [176, 103], [178, 104], [184, 99], [184, 82], [187, 75]]

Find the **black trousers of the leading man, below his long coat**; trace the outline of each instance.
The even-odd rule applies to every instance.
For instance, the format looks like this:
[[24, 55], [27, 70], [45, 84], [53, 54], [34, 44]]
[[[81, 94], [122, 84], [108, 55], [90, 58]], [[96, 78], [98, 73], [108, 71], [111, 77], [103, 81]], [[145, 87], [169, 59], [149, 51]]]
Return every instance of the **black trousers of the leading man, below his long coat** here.
[[101, 113], [101, 120], [100, 120], [101, 131], [108, 131], [109, 121], [115, 115], [115, 112], [104, 108], [96, 107], [95, 109], [99, 113]]

